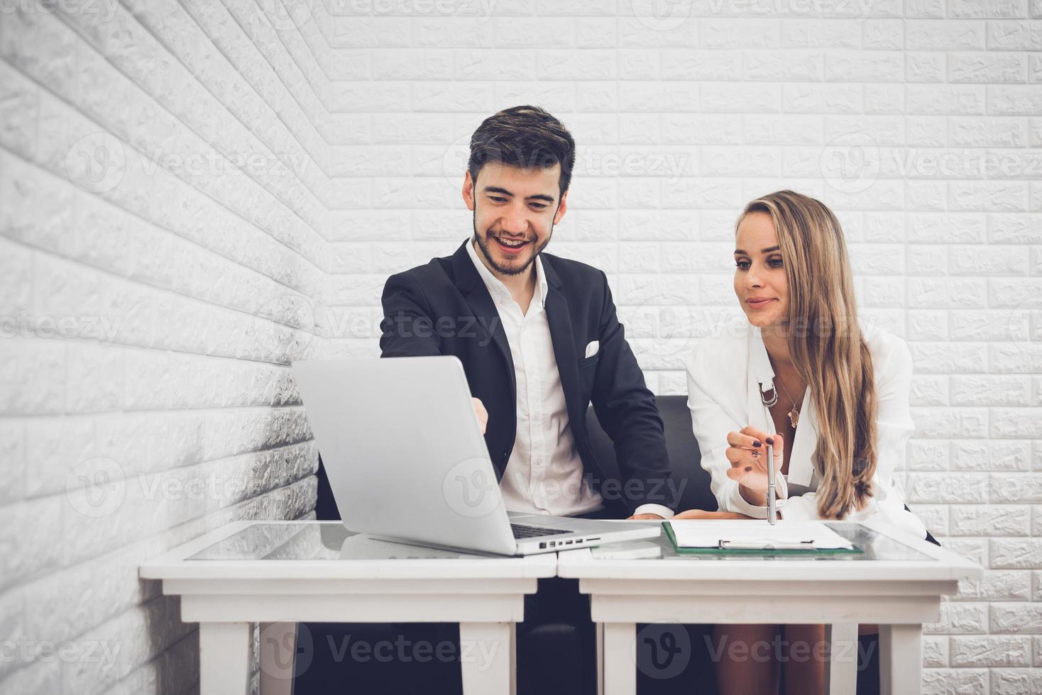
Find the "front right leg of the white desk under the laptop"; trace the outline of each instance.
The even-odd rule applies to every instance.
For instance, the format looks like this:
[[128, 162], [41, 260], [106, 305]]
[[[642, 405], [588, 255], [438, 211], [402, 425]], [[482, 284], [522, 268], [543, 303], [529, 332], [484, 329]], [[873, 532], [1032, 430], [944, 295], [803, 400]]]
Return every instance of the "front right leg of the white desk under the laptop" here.
[[461, 622], [460, 670], [464, 695], [513, 693], [517, 689], [513, 622]]

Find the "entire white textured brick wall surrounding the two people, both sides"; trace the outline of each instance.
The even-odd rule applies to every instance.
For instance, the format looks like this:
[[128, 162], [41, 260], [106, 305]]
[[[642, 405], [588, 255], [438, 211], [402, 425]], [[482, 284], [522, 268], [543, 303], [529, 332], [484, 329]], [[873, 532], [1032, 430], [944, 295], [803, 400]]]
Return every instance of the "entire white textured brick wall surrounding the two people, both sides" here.
[[988, 568], [924, 692], [1038, 692], [1039, 0], [5, 3], [0, 691], [197, 687], [137, 564], [311, 512], [287, 364], [377, 353], [387, 275], [470, 233], [470, 133], [519, 103], [578, 141], [550, 249], [609, 274], [656, 392], [738, 315], [741, 206], [837, 211], [915, 362], [910, 505]]

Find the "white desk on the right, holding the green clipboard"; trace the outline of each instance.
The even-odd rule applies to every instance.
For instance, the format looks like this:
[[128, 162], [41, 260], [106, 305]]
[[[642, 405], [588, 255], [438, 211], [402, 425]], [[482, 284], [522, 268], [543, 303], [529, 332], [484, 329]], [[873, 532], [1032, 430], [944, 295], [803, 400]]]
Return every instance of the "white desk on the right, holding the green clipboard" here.
[[[854, 693], [857, 624], [877, 623], [883, 695], [920, 692], [922, 623], [939, 620], [941, 596], [983, 569], [886, 524], [830, 525], [866, 552], [815, 560], [678, 555], [665, 535], [626, 544], [635, 556], [650, 556], [640, 559], [598, 558], [587, 548], [560, 552], [557, 576], [578, 578], [591, 597], [602, 692], [637, 692], [636, 623], [827, 624], [832, 695]], [[663, 654], [674, 648], [661, 646]]]

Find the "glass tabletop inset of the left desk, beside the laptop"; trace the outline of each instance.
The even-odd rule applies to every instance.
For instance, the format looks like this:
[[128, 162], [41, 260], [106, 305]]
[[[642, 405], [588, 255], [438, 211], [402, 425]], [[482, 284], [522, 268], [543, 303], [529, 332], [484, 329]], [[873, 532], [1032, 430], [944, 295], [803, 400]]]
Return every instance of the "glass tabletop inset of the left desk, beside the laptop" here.
[[259, 522], [185, 560], [446, 560], [486, 559], [456, 550], [407, 545], [356, 534], [339, 521]]

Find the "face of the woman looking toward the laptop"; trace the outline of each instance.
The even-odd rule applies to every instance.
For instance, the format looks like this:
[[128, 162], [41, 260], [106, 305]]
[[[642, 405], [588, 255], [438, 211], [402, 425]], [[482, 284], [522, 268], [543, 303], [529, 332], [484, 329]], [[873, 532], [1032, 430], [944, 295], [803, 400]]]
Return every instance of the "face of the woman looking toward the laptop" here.
[[789, 315], [789, 282], [774, 223], [766, 212], [750, 212], [738, 226], [735, 294], [753, 326], [784, 323]]

